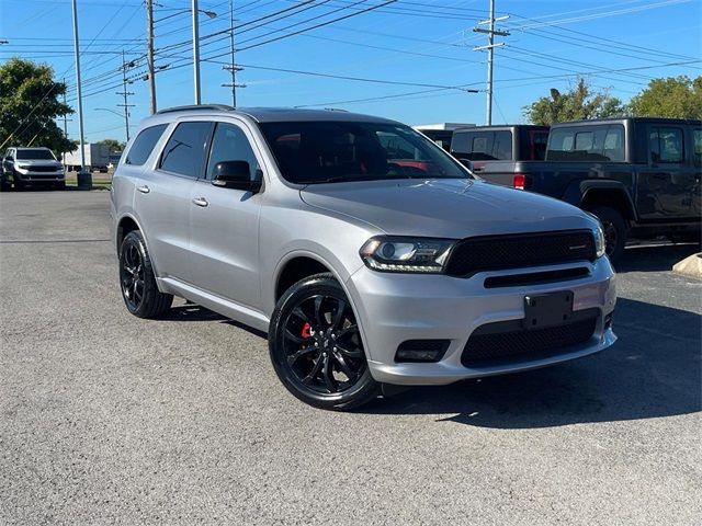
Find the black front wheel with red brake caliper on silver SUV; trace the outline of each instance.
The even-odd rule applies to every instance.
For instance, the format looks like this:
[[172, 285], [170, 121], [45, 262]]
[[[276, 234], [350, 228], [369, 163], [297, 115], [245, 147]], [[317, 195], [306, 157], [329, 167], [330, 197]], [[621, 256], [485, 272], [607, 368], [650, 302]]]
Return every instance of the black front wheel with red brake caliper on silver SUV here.
[[268, 342], [278, 377], [309, 405], [350, 410], [380, 392], [355, 315], [331, 274], [306, 277], [283, 294], [273, 311]]

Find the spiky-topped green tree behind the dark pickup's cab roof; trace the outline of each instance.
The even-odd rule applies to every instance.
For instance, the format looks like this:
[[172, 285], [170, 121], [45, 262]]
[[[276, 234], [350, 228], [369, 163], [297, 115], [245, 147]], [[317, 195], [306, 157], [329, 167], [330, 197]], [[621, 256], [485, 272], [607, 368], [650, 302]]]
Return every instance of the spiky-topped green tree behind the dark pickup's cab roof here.
[[551, 125], [566, 121], [600, 118], [624, 113], [622, 101], [611, 96], [607, 90], [595, 92], [584, 78], [567, 92], [551, 89], [551, 96], [542, 96], [523, 107], [529, 122]]

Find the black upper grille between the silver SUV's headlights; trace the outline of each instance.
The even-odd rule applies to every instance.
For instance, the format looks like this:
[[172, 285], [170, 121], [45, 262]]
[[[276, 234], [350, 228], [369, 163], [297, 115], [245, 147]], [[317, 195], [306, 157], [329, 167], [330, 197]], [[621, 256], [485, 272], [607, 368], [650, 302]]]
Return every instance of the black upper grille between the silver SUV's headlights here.
[[484, 236], [458, 241], [445, 272], [451, 276], [467, 276], [483, 271], [595, 259], [595, 238], [589, 230]]

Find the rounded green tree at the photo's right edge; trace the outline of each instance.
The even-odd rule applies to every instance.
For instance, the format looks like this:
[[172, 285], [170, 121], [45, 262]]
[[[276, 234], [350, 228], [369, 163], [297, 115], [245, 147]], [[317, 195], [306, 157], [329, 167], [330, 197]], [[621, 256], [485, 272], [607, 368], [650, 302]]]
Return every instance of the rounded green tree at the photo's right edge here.
[[629, 102], [629, 113], [646, 117], [702, 118], [702, 76], [652, 80]]

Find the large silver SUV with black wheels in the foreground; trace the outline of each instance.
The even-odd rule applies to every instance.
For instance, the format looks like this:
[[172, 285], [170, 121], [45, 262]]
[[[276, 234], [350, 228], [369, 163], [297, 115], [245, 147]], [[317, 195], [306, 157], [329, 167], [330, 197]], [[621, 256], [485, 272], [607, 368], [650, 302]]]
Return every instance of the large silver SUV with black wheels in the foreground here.
[[283, 385], [320, 408], [615, 341], [593, 216], [485, 183], [394, 121], [160, 112], [121, 159], [112, 224], [129, 312], [180, 296], [265, 331]]

